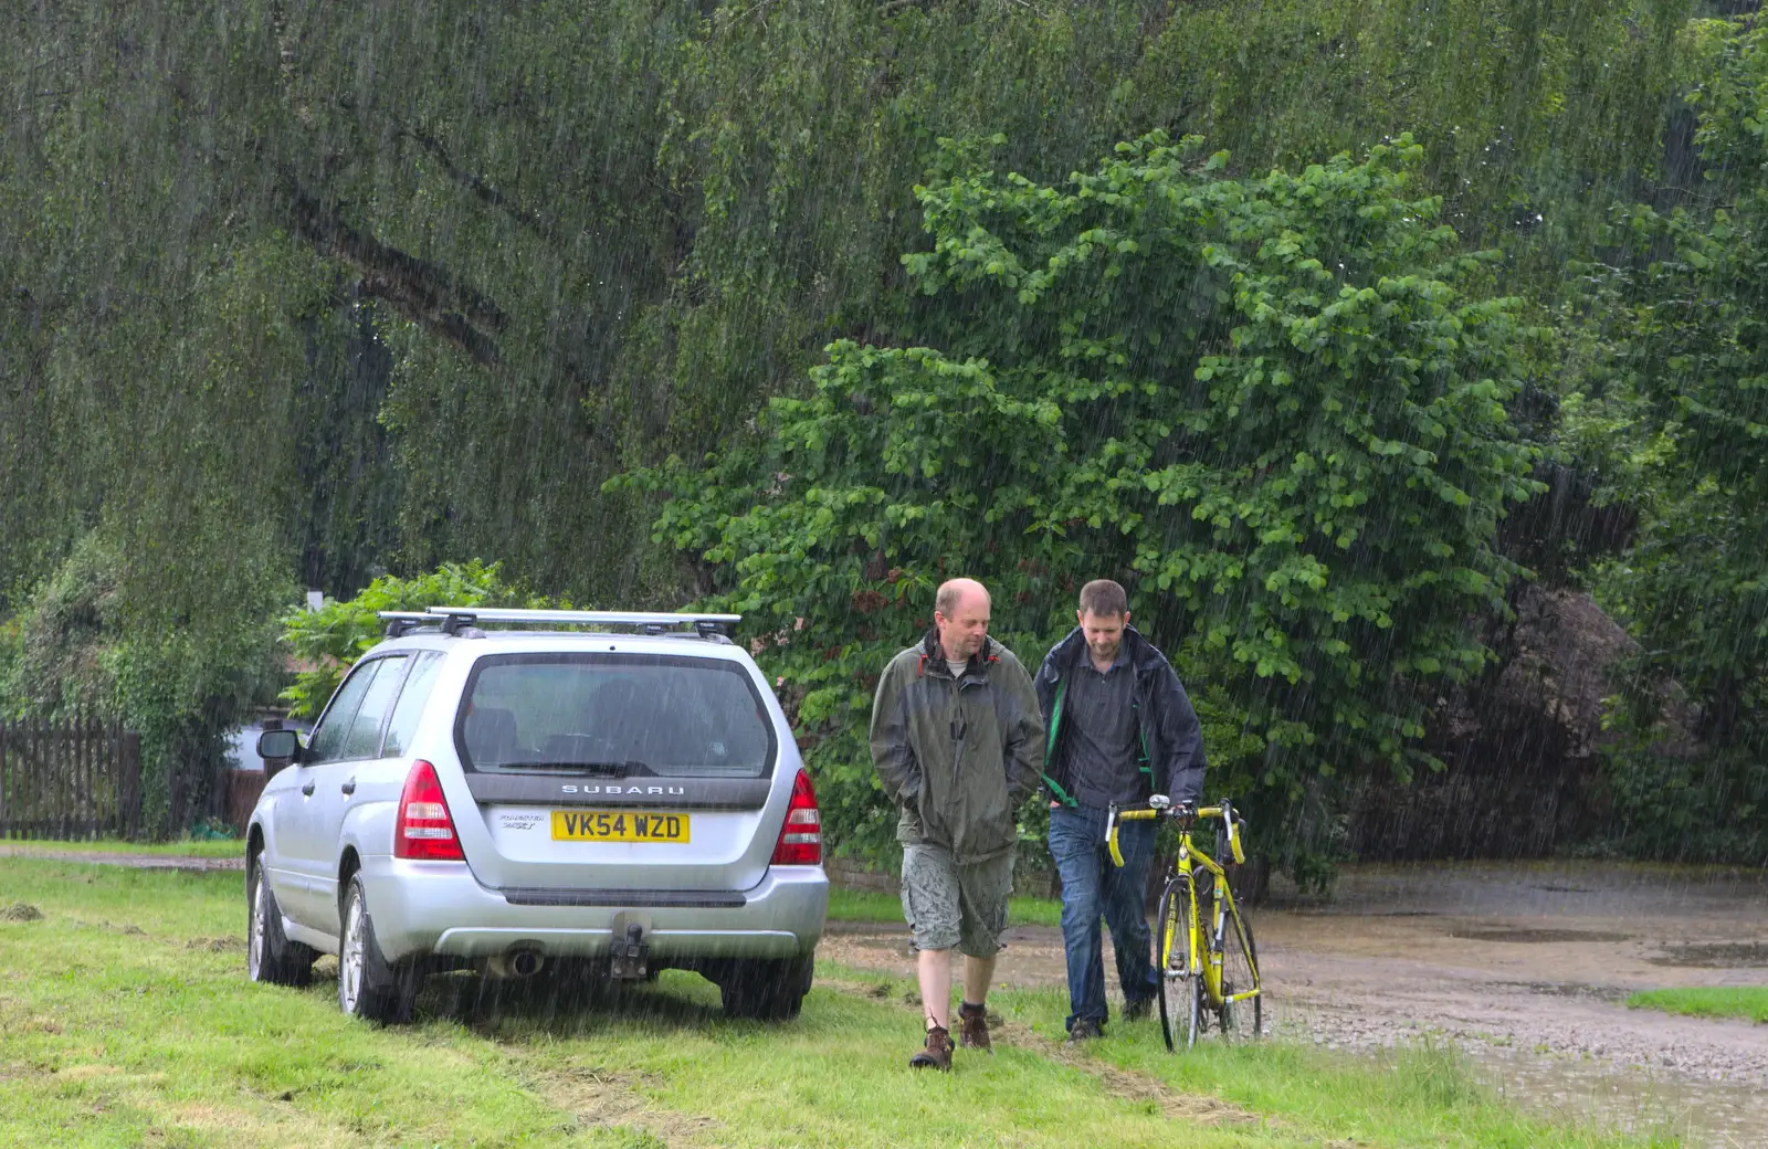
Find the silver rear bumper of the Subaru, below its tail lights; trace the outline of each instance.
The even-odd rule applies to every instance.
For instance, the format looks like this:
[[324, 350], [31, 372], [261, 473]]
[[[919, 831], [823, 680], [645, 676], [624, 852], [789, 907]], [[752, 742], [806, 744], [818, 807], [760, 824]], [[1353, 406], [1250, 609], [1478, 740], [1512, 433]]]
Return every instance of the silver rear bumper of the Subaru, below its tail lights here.
[[[518, 949], [601, 958], [633, 925], [659, 965], [790, 958], [815, 949], [829, 912], [822, 866], [769, 866], [760, 884], [741, 894], [621, 891], [606, 898], [621, 905], [536, 905], [536, 891], [506, 896], [481, 886], [461, 863], [389, 854], [364, 857], [361, 879], [375, 940], [389, 962], [492, 958]], [[578, 900], [594, 902], [596, 894]]]

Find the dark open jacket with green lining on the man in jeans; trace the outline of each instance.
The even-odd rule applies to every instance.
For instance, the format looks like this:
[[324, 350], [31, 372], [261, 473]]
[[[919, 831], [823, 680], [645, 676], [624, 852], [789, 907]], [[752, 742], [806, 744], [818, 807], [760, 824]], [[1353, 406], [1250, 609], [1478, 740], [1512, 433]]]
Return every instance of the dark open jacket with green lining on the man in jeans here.
[[[1192, 700], [1155, 643], [1133, 626], [1123, 628], [1123, 643], [1135, 670], [1135, 718], [1142, 734], [1142, 771], [1155, 794], [1174, 803], [1195, 803], [1204, 792], [1204, 732]], [[1075, 806], [1070, 753], [1063, 739], [1063, 696], [1068, 682], [1087, 658], [1087, 636], [1077, 626], [1050, 647], [1038, 670], [1038, 711], [1043, 714], [1043, 785], [1050, 797]]]

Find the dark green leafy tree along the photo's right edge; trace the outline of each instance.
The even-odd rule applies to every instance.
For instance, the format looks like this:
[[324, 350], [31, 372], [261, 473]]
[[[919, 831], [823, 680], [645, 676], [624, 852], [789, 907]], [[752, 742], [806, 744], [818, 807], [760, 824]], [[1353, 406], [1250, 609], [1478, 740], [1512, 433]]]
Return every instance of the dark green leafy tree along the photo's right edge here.
[[1604, 433], [1607, 451], [1591, 454], [1644, 509], [1635, 546], [1597, 573], [1641, 643], [1616, 698], [1621, 833], [1653, 854], [1757, 859], [1768, 848], [1768, 27], [1703, 21], [1694, 39], [1706, 71], [1688, 101], [1715, 207], [1618, 212], [1609, 260], [1589, 276], [1604, 354], [1582, 380], [1577, 426]]

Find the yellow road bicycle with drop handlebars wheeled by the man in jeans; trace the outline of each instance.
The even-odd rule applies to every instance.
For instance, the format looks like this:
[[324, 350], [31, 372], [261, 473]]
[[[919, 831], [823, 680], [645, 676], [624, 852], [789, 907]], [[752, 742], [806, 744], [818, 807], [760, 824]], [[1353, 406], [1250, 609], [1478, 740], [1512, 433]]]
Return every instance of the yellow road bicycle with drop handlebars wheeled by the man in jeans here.
[[[1195, 818], [1218, 820], [1216, 856], [1246, 861], [1241, 847], [1243, 822], [1229, 803], [1220, 806], [1172, 806], [1163, 801], [1146, 810], [1112, 806], [1107, 824], [1110, 856], [1119, 866], [1119, 822], [1172, 818], [1179, 827], [1179, 856], [1160, 894], [1155, 937], [1160, 955], [1160, 1027], [1169, 1050], [1190, 1048], [1199, 1031], [1215, 1022], [1223, 1038], [1264, 1032], [1264, 997], [1259, 985], [1259, 953], [1252, 926], [1227, 880], [1227, 870], [1192, 841]], [[1199, 882], [1204, 886], [1199, 898]]]

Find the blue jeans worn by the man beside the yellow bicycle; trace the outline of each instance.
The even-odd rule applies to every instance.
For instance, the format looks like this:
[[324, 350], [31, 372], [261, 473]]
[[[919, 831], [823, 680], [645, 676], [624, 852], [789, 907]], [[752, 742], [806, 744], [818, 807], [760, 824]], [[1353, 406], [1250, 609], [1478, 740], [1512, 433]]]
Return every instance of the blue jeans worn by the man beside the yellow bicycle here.
[[1117, 827], [1117, 848], [1123, 852], [1123, 868], [1117, 868], [1105, 840], [1105, 817], [1107, 811], [1096, 806], [1050, 811], [1050, 856], [1063, 879], [1063, 946], [1068, 951], [1068, 1008], [1073, 1011], [1068, 1029], [1082, 1018], [1103, 1023], [1109, 1015], [1101, 914], [1117, 951], [1117, 983], [1124, 1001], [1147, 1001], [1160, 992], [1144, 912], [1155, 822]]

